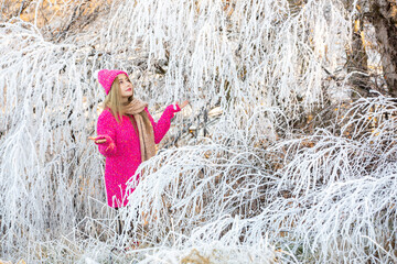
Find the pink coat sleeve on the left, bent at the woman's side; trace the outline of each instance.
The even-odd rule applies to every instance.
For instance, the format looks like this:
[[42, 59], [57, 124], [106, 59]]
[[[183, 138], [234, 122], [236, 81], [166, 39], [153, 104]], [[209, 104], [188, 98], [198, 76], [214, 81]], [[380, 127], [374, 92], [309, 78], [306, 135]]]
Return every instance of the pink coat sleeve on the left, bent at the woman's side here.
[[106, 139], [105, 143], [97, 144], [104, 156], [111, 156], [117, 153], [116, 128], [111, 114], [100, 114], [97, 122], [98, 140]]

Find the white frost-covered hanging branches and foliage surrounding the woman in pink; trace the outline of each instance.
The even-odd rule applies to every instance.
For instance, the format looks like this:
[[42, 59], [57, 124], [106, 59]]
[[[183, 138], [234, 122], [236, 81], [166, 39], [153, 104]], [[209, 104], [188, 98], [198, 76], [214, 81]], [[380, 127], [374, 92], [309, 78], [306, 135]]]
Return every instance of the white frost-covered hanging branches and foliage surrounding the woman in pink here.
[[[3, 19], [0, 260], [397, 262], [397, 105], [351, 100], [346, 2], [112, 1], [57, 38]], [[87, 140], [101, 68], [130, 73], [158, 116], [191, 102], [118, 211]]]

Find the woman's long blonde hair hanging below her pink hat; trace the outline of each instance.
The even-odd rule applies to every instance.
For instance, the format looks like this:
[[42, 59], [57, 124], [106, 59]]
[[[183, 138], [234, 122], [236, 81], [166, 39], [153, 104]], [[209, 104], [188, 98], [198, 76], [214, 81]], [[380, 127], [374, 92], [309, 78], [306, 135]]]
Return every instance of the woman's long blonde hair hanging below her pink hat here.
[[121, 101], [121, 91], [118, 77], [115, 78], [114, 82], [111, 84], [111, 88], [109, 94], [105, 98], [105, 108], [110, 108], [111, 114], [115, 117], [116, 121], [120, 123], [120, 117], [125, 114], [126, 106], [132, 101], [133, 94], [131, 97], [128, 98], [127, 103], [122, 103]]

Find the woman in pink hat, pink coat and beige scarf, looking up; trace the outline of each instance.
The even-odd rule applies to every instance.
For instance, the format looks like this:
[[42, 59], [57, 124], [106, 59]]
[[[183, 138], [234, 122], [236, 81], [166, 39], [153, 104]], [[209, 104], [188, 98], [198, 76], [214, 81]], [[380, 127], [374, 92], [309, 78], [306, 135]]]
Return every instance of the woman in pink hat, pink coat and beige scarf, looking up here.
[[[140, 163], [155, 154], [155, 144], [170, 129], [174, 113], [181, 111], [187, 101], [181, 106], [178, 102], [168, 106], [160, 120], [154, 122], [148, 111], [148, 103], [133, 97], [133, 87], [127, 73], [103, 69], [98, 73], [98, 80], [107, 97], [105, 109], [98, 117], [98, 135], [89, 139], [106, 157], [107, 204], [119, 208], [127, 205], [129, 194], [126, 196], [126, 183]], [[139, 175], [137, 177], [139, 179]]]

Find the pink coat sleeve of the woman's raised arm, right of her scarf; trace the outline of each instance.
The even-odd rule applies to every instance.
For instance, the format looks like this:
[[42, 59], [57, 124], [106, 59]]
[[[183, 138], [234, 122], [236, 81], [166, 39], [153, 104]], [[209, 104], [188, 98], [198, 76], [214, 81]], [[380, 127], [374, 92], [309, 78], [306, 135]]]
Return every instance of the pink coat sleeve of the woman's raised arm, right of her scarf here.
[[144, 108], [144, 111], [147, 111], [150, 122], [153, 127], [154, 143], [159, 144], [160, 141], [164, 138], [167, 131], [169, 131], [171, 119], [174, 117], [174, 113], [181, 111], [181, 108], [176, 103], [168, 106], [158, 122], [154, 122], [152, 116], [149, 113], [148, 108]]

